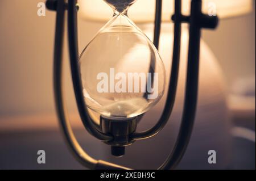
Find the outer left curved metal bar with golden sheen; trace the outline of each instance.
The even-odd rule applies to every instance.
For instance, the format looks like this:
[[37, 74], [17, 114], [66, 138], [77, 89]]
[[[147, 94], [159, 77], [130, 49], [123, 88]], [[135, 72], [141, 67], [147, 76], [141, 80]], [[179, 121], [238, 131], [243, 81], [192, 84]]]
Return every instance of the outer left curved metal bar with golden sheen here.
[[65, 110], [65, 104], [63, 99], [63, 82], [61, 82], [62, 77], [62, 54], [63, 54], [63, 36], [64, 36], [64, 13], [65, 13], [65, 1], [60, 0], [57, 3], [57, 15], [56, 15], [56, 32], [55, 32], [55, 50], [54, 50], [54, 92], [55, 92], [55, 104], [56, 111], [59, 117], [59, 122], [67, 142], [69, 149], [72, 151], [73, 155], [76, 157], [78, 161], [82, 163], [82, 165], [93, 169], [97, 161], [91, 158], [88, 154], [86, 154], [79, 143], [77, 142], [73, 131], [71, 129], [71, 125], [69, 124], [67, 111]]

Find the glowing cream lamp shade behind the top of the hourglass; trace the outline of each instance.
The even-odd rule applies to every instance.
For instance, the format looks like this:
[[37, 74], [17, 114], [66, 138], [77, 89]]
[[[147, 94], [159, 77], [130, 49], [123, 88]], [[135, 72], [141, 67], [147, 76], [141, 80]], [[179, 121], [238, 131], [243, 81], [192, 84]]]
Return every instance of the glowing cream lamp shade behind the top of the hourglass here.
[[[191, 0], [182, 0], [182, 11], [189, 15]], [[106, 21], [113, 11], [103, 0], [80, 0], [80, 15], [86, 20]], [[217, 13], [220, 18], [239, 16], [253, 9], [253, 0], [203, 0], [205, 14]], [[138, 0], [130, 7], [129, 17], [135, 22], [152, 22], [155, 15], [155, 0]], [[170, 21], [174, 14], [174, 0], [163, 0], [163, 21]]]

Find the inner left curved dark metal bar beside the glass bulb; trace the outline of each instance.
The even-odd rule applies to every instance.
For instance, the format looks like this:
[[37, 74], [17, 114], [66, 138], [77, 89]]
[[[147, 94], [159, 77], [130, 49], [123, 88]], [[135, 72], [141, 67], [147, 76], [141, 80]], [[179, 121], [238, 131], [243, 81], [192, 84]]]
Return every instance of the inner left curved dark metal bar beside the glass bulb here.
[[94, 137], [102, 141], [110, 141], [112, 136], [101, 133], [96, 129], [96, 125], [90, 119], [88, 110], [85, 105], [82, 93], [82, 83], [79, 70], [79, 56], [77, 44], [77, 0], [68, 1], [68, 40], [69, 40], [69, 56], [72, 71], [73, 89], [75, 91], [76, 103], [79, 109], [80, 117], [85, 129]]

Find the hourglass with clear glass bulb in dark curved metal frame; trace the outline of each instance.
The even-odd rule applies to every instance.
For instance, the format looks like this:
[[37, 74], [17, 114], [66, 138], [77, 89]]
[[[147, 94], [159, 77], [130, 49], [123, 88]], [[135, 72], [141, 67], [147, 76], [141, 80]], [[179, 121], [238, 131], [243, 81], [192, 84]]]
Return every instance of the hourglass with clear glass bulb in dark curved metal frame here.
[[[138, 121], [162, 98], [166, 85], [165, 70], [158, 50], [128, 18], [136, 0], [104, 0], [114, 11], [113, 18], [78, 55], [76, 0], [48, 0], [47, 7], [57, 12], [54, 88], [57, 114], [64, 137], [75, 158], [90, 169], [128, 169], [96, 160], [81, 148], [73, 134], [65, 110], [62, 90], [62, 53], [64, 14], [68, 11], [69, 57], [77, 107], [82, 123], [94, 137], [110, 145], [112, 154], [125, 154], [135, 140], [155, 136], [166, 125], [174, 107], [179, 73], [181, 23], [189, 23], [189, 53], [184, 111], [174, 150], [159, 169], [174, 169], [187, 148], [195, 119], [199, 76], [201, 28], [215, 28], [217, 17], [201, 12], [201, 0], [191, 1], [191, 15], [181, 14], [181, 0], [175, 0], [174, 53], [168, 96], [162, 116], [154, 127], [137, 132]], [[93, 8], [93, 7], [92, 7]], [[159, 40], [162, 1], [156, 0], [155, 37]], [[156, 46], [157, 47], [157, 46]], [[88, 110], [100, 114], [97, 124]], [[168, 144], [167, 144], [168, 146]]]

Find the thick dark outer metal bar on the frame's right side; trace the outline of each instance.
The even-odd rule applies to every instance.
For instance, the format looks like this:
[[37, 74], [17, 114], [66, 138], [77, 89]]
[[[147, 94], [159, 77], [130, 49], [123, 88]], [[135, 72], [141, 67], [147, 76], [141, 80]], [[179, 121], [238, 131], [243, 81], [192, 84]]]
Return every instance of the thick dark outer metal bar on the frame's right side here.
[[168, 156], [160, 169], [174, 169], [181, 161], [187, 149], [193, 123], [196, 115], [197, 91], [199, 82], [199, 55], [200, 55], [200, 34], [201, 25], [198, 22], [201, 16], [201, 0], [192, 0], [191, 18], [189, 27], [189, 50], [188, 50], [188, 70], [187, 85], [184, 100], [183, 117], [174, 150]]

